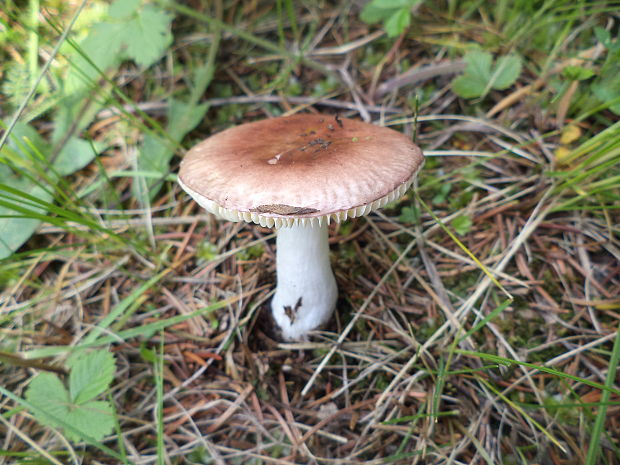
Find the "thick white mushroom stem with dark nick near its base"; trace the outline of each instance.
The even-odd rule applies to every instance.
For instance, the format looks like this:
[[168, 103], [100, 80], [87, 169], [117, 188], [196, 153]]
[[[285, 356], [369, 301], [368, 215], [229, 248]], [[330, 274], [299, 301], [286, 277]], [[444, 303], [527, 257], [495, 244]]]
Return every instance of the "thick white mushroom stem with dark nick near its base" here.
[[303, 340], [329, 320], [338, 297], [329, 263], [327, 224], [280, 228], [276, 246], [273, 318], [286, 339]]

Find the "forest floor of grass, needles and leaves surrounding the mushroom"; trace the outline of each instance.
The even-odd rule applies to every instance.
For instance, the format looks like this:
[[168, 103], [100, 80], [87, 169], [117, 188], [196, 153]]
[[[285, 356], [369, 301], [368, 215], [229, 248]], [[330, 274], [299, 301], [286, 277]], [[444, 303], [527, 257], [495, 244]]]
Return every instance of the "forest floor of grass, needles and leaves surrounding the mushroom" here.
[[[6, 3], [0, 464], [620, 463], [617, 3], [363, 4]], [[298, 112], [426, 163], [283, 342], [274, 231], [176, 173]]]

